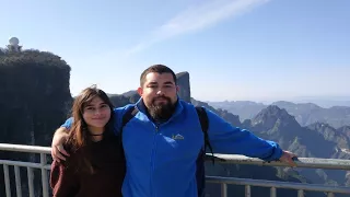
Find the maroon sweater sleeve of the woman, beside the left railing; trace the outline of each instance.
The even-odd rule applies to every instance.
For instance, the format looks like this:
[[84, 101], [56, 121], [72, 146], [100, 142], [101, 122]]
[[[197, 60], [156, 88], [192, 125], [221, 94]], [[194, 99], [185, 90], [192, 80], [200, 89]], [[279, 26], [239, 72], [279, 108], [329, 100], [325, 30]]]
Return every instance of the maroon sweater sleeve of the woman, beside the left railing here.
[[78, 193], [79, 182], [74, 171], [65, 164], [54, 161], [50, 171], [50, 187], [54, 197], [74, 196]]

